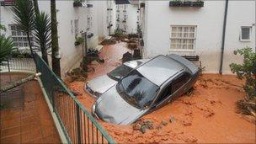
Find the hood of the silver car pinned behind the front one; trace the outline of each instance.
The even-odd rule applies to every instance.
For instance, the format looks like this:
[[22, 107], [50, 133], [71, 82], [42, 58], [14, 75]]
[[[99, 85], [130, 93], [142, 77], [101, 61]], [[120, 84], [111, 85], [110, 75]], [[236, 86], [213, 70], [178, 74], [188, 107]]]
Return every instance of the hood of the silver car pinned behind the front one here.
[[104, 93], [106, 90], [111, 88], [117, 83], [115, 80], [109, 78], [107, 75], [93, 78], [87, 83], [88, 88], [92, 89], [93, 92]]

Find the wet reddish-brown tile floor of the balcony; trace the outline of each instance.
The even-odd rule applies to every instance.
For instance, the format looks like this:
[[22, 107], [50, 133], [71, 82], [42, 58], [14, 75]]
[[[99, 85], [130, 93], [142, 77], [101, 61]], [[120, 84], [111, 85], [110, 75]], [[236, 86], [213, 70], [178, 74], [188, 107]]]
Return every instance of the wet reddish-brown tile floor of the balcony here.
[[[25, 76], [0, 73], [0, 86]], [[21, 88], [24, 94], [8, 94], [13, 99], [5, 99], [6, 108], [0, 110], [0, 143], [61, 143], [39, 83], [30, 81]]]

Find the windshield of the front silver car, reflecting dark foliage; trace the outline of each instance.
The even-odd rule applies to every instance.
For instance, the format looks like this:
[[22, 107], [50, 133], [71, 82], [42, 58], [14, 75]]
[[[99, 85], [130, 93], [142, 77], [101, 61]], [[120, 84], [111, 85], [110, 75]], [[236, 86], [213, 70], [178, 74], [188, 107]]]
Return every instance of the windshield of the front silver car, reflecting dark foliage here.
[[138, 109], [146, 109], [152, 104], [158, 86], [140, 72], [134, 70], [117, 84], [117, 91], [125, 101]]

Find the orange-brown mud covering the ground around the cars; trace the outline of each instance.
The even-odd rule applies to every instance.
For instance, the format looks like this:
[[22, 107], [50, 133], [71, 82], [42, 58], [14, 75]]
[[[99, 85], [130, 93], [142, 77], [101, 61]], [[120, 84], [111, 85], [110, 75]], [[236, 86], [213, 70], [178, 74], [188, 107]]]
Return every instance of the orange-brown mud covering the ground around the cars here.
[[[91, 66], [88, 80], [105, 74], [120, 64], [122, 54], [128, 51], [125, 43], [104, 46], [101, 65]], [[83, 82], [69, 83], [72, 90], [83, 93], [77, 98], [90, 111], [95, 99], [83, 90]], [[170, 143], [170, 142], [239, 142], [255, 143], [255, 125], [237, 114], [236, 102], [245, 93], [242, 81], [231, 75], [204, 74], [195, 83], [191, 95], [183, 95], [162, 109], [145, 115], [152, 122], [152, 130], [144, 134], [134, 125], [113, 125], [99, 122], [118, 143]]]

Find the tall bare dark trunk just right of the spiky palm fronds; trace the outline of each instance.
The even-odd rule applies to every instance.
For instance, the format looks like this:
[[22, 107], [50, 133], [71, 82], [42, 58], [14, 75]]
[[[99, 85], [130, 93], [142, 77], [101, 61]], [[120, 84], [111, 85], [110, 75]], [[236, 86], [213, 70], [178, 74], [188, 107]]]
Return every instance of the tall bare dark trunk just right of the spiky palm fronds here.
[[61, 64], [59, 58], [59, 41], [56, 19], [56, 0], [51, 0], [51, 60], [52, 70], [61, 77]]

